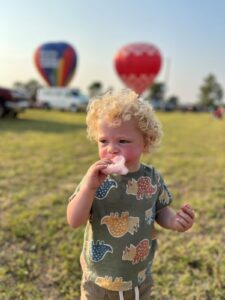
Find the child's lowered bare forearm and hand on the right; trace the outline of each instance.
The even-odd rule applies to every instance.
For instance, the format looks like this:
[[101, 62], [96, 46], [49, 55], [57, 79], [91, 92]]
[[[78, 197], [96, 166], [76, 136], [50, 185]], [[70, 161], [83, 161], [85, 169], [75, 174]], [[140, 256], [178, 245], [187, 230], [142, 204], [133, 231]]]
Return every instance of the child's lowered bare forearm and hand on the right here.
[[156, 221], [164, 228], [184, 232], [192, 227], [194, 218], [193, 210], [186, 204], [177, 213], [169, 206], [162, 208], [157, 213]]

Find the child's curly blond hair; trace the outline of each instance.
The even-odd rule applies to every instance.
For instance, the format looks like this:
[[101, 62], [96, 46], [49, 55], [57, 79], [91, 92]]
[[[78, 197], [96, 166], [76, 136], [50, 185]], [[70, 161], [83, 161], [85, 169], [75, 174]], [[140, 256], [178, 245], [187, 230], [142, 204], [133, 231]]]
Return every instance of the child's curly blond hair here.
[[97, 141], [98, 121], [105, 120], [112, 126], [135, 119], [147, 143], [145, 152], [152, 152], [159, 146], [162, 129], [152, 106], [135, 92], [124, 89], [118, 93], [109, 91], [103, 96], [93, 98], [87, 108], [87, 134]]

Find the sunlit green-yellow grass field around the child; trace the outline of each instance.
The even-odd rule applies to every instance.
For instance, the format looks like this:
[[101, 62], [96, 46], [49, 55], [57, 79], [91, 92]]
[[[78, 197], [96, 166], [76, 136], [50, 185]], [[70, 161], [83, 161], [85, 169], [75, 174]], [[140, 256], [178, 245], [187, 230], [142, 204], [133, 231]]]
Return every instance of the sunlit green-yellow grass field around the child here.
[[[157, 227], [152, 299], [225, 299], [225, 120], [159, 118], [162, 146], [143, 161], [163, 174], [175, 209], [193, 206], [196, 223], [185, 234]], [[0, 120], [1, 300], [78, 299], [83, 228], [69, 228], [66, 206], [96, 159], [84, 114], [28, 110]]]

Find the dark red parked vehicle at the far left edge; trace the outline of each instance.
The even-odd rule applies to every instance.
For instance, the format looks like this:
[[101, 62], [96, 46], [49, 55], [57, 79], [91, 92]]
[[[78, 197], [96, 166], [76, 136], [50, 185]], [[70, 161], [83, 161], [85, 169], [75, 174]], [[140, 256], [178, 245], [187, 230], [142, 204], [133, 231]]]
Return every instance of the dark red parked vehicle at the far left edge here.
[[20, 91], [0, 88], [0, 118], [10, 116], [17, 117], [17, 114], [29, 107], [26, 95]]

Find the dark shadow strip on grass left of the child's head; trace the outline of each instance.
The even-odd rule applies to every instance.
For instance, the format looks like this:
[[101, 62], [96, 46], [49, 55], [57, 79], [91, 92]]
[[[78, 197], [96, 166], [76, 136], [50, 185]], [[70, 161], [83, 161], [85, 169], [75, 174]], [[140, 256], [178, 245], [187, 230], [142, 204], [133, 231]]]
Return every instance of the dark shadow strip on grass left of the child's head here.
[[53, 120], [32, 120], [32, 119], [0, 119], [1, 132], [40, 131], [40, 132], [57, 132], [64, 133], [68, 131], [77, 131], [84, 129], [84, 124], [73, 124], [66, 122], [57, 122]]

